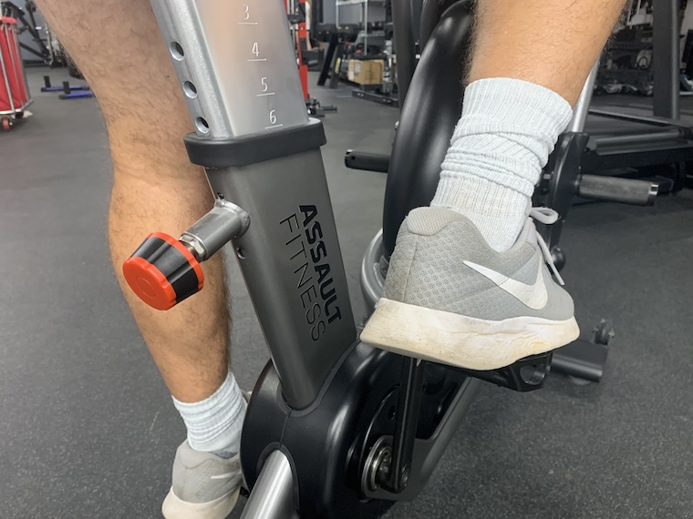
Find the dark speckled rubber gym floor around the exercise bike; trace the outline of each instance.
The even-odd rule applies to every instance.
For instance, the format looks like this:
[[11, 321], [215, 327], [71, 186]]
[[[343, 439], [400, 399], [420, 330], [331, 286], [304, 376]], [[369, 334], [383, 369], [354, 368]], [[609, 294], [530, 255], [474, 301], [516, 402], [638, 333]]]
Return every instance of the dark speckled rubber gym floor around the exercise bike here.
[[[29, 70], [34, 116], [0, 134], [0, 517], [160, 517], [184, 429], [110, 267], [97, 104], [40, 93], [44, 73]], [[385, 176], [343, 155], [388, 152], [397, 110], [313, 90], [339, 107], [323, 154], [360, 317]], [[563, 245], [584, 331], [614, 320], [603, 382], [484, 385], [426, 492], [388, 518], [693, 517], [693, 192], [576, 207]], [[234, 266], [231, 279], [233, 362], [251, 389], [268, 356]]]

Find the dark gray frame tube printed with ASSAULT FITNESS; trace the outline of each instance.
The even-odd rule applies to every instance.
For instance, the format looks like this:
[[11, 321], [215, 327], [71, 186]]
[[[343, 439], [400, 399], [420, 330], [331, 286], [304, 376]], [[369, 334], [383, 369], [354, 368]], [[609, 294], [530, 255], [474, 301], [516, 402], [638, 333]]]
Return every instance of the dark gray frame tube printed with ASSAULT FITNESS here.
[[320, 151], [207, 176], [251, 214], [233, 247], [284, 398], [302, 409], [357, 337]]

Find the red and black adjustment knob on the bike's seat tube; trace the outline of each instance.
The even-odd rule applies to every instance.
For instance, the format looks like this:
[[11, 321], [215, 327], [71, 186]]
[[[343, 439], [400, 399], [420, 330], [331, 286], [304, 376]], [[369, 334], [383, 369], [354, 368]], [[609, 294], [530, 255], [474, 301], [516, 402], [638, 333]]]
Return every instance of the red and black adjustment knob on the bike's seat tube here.
[[204, 286], [198, 260], [178, 239], [162, 232], [142, 242], [123, 263], [123, 275], [140, 300], [157, 310], [169, 310]]

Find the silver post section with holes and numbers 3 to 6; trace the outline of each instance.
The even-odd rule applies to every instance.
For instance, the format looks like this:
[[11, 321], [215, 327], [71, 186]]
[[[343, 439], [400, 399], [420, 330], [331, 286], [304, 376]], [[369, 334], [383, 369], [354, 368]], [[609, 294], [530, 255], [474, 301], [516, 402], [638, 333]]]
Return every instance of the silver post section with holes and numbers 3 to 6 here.
[[151, 0], [201, 137], [307, 124], [282, 2]]

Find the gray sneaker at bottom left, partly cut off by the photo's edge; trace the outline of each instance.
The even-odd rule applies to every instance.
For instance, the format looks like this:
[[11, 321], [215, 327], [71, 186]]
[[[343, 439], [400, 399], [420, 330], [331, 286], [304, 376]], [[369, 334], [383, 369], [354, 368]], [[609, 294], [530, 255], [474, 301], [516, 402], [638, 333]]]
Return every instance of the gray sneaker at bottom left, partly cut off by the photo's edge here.
[[241, 491], [238, 454], [225, 460], [181, 443], [173, 462], [173, 485], [161, 505], [166, 519], [225, 519]]

